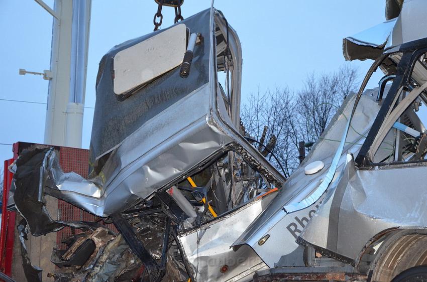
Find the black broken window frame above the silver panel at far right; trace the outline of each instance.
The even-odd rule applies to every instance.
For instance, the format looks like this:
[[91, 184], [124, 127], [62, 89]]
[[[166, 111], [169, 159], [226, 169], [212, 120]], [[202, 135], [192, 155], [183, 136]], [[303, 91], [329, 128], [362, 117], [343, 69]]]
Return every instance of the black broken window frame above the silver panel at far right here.
[[[387, 121], [389, 111], [391, 111], [394, 106], [394, 100], [396, 95], [400, 95], [400, 90], [411, 83], [411, 75], [414, 69], [415, 63], [420, 58], [420, 56], [427, 52], [427, 39], [417, 40], [411, 43], [402, 44], [398, 50], [391, 50], [385, 58], [383, 58], [383, 63], [390, 59], [393, 54], [403, 53], [400, 61], [397, 63], [396, 71], [394, 72], [395, 77], [393, 83], [388, 91], [387, 96], [381, 101], [382, 106], [378, 112], [374, 123], [369, 130], [369, 133], [365, 139], [365, 142], [362, 145], [359, 154], [357, 155], [355, 162], [360, 169], [373, 169], [375, 167], [402, 167], [402, 166], [419, 166], [427, 165], [427, 160], [418, 160], [418, 161], [393, 161], [390, 163], [377, 163], [373, 161], [373, 156], [377, 152], [377, 149], [373, 148], [375, 142], [378, 142], [377, 139], [380, 137], [380, 130], [388, 130], [391, 128], [381, 128], [382, 125]], [[392, 73], [390, 73], [392, 74]], [[367, 75], [370, 75], [369, 73]], [[418, 96], [417, 96], [418, 97]], [[415, 99], [417, 98], [415, 97]], [[415, 100], [414, 99], [414, 100]], [[382, 138], [383, 139], [383, 138]], [[382, 141], [382, 140], [381, 140]], [[373, 152], [375, 149], [375, 152]]]

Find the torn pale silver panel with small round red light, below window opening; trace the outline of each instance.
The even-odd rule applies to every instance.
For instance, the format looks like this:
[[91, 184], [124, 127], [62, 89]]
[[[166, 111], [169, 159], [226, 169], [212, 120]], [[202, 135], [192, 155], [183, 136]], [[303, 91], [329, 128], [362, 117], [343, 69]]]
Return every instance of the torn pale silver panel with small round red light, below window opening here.
[[254, 199], [222, 218], [178, 235], [197, 281], [251, 280], [251, 273], [267, 267], [250, 247], [235, 252], [230, 246], [274, 196], [275, 193]]

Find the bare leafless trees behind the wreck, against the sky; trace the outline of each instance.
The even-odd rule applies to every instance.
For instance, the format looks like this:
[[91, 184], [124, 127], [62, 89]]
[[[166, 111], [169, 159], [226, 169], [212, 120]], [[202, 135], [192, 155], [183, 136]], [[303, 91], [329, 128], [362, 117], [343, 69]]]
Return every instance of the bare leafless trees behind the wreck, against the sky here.
[[[242, 107], [241, 119], [247, 134], [271, 148], [288, 177], [298, 166], [299, 142], [315, 142], [346, 96], [356, 90], [357, 70], [343, 65], [331, 74], [307, 76], [304, 87], [292, 93], [288, 88], [251, 95]], [[261, 147], [259, 147], [261, 149]], [[279, 166], [271, 156], [270, 161]]]

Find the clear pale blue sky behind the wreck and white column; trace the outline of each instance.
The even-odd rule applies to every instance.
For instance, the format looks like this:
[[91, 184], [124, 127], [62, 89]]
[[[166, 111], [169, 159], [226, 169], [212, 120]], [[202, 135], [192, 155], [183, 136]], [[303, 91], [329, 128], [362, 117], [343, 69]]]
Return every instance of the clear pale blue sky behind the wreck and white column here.
[[[53, 8], [53, 0], [45, 1]], [[185, 0], [182, 16], [210, 6], [210, 0]], [[268, 88], [298, 89], [311, 72], [333, 72], [345, 63], [342, 39], [385, 21], [385, 0], [230, 1], [216, 0], [237, 31], [243, 50], [242, 102]], [[98, 63], [111, 47], [153, 31], [153, 0], [92, 0], [86, 106], [94, 106]], [[163, 8], [163, 25], [173, 24]], [[18, 74], [20, 68], [49, 69], [52, 17], [33, 0], [0, 1], [0, 99], [45, 103], [48, 81]], [[351, 62], [361, 78], [372, 61]], [[374, 85], [371, 85], [374, 87]], [[45, 104], [0, 100], [0, 143], [43, 143]], [[83, 148], [89, 147], [93, 109], [85, 109]], [[0, 145], [0, 159], [12, 146]]]

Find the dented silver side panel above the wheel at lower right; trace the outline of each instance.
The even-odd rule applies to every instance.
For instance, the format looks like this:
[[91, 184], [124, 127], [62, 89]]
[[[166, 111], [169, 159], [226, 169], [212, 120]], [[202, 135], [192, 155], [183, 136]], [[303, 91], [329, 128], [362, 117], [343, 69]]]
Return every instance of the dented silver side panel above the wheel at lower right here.
[[[427, 166], [356, 170], [353, 158], [347, 158], [337, 189], [317, 210], [301, 239], [356, 263], [365, 244], [378, 233], [427, 226]], [[328, 232], [321, 232], [325, 235], [320, 237], [318, 230]]]

